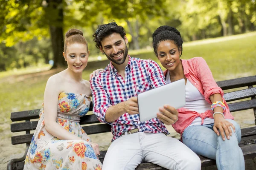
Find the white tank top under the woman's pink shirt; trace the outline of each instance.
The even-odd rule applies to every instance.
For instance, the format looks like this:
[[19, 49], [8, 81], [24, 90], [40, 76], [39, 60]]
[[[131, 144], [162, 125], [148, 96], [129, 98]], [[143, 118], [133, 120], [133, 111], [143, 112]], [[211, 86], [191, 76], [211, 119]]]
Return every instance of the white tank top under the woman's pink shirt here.
[[[170, 74], [169, 72], [166, 74], [166, 83], [170, 83]], [[198, 89], [192, 85], [192, 83], [187, 79], [186, 86], [186, 105], [183, 108], [189, 109], [191, 111], [196, 111], [198, 113], [204, 113], [205, 111], [211, 108], [211, 104], [209, 104], [205, 99], [204, 95], [202, 95]], [[189, 125], [201, 125], [202, 119], [201, 117], [197, 117], [194, 121]], [[214, 123], [214, 119], [206, 118], [204, 119], [204, 125]]]

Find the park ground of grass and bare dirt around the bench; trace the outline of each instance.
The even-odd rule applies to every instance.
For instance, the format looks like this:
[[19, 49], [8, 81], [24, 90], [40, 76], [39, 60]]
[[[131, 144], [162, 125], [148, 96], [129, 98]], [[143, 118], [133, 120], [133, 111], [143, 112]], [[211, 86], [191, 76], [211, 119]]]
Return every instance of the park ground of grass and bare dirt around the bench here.
[[[142, 59], [151, 58], [160, 65], [152, 49], [130, 51], [129, 54]], [[256, 32], [184, 43], [181, 59], [192, 57], [203, 57], [207, 61], [215, 81], [255, 75]], [[83, 72], [84, 79], [89, 79], [93, 70], [105, 68], [109, 63], [104, 56], [102, 61], [96, 61], [96, 58], [97, 56], [91, 57]], [[41, 108], [47, 79], [63, 69], [49, 70], [49, 65], [42, 65], [0, 72], [0, 170], [6, 169], [9, 159], [22, 156], [25, 149], [25, 144], [11, 144], [11, 136], [18, 134], [10, 132], [11, 112]], [[252, 110], [235, 112], [233, 116], [242, 128], [254, 126]], [[168, 129], [170, 136], [180, 138], [172, 126]], [[101, 150], [107, 149], [111, 144], [111, 133], [90, 136]]]

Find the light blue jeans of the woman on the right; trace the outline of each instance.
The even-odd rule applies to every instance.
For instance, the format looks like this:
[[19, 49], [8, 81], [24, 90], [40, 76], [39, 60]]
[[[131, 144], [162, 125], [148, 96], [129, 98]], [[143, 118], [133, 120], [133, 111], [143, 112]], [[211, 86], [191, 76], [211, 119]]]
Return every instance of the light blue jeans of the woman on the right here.
[[213, 125], [194, 125], [187, 127], [182, 134], [182, 141], [196, 154], [215, 159], [218, 170], [244, 170], [244, 155], [238, 143], [241, 141], [241, 129], [239, 125], [226, 119], [236, 128], [232, 129], [232, 136], [223, 141], [213, 131]]

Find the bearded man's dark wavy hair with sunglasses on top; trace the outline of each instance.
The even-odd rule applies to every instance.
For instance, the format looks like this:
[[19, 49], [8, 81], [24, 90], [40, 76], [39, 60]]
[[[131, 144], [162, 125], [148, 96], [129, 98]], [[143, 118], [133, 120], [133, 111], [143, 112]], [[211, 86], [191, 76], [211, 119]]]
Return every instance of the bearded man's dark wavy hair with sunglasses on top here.
[[118, 26], [115, 22], [99, 25], [98, 29], [93, 34], [93, 41], [96, 42], [96, 47], [100, 48], [102, 47], [101, 41], [108, 37], [109, 35], [117, 33], [120, 34], [120, 36], [125, 39], [125, 29], [122, 26]]

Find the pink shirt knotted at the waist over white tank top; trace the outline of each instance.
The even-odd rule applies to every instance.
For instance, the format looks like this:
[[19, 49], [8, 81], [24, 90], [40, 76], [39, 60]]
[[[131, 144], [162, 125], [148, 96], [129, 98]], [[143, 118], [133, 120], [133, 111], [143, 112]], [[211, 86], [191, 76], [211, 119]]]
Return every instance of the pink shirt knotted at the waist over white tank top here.
[[[212, 72], [207, 65], [206, 61], [202, 57], [194, 57], [192, 59], [181, 59], [183, 71], [185, 77], [204, 95], [205, 100], [212, 104], [209, 99], [212, 94], [221, 94], [224, 104], [226, 106], [226, 112], [224, 113], [225, 119], [234, 119], [231, 115], [227, 102], [223, 98], [223, 91], [218, 87], [217, 83], [213, 79]], [[168, 70], [164, 72], [164, 76], [168, 73]], [[178, 121], [172, 125], [177, 133], [182, 136], [183, 131], [188, 127], [196, 117], [202, 118], [202, 124], [204, 119], [212, 117], [212, 111], [207, 110], [204, 113], [198, 113], [186, 108], [177, 109], [179, 112]]]

